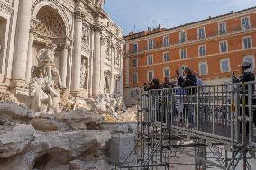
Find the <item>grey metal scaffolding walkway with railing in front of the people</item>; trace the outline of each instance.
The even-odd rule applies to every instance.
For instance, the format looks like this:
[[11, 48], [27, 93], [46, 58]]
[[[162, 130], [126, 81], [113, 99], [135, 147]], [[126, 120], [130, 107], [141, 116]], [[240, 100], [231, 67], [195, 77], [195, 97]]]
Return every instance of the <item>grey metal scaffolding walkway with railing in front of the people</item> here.
[[[116, 169], [165, 169], [172, 157], [195, 158], [195, 170], [252, 169], [256, 136], [255, 82], [157, 89], [144, 92], [138, 110], [137, 143]], [[255, 122], [256, 123], [256, 122]], [[132, 159], [132, 156], [136, 159]]]

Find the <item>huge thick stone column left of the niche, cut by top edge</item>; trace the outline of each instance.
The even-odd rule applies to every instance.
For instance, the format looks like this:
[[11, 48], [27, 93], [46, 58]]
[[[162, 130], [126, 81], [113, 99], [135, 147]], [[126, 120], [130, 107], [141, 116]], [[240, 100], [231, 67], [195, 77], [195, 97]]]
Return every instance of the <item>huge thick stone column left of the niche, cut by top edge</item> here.
[[13, 76], [15, 81], [26, 80], [26, 65], [31, 21], [32, 0], [20, 1], [14, 43]]

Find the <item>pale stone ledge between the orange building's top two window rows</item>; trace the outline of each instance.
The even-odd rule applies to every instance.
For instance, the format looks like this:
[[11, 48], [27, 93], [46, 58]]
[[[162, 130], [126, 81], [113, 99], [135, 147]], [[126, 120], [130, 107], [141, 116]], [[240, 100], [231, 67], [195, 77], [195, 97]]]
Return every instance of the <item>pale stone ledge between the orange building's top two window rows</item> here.
[[224, 39], [224, 38], [229, 38], [229, 37], [233, 37], [233, 36], [237, 36], [237, 35], [242, 35], [248, 32], [255, 32], [256, 28], [251, 28], [250, 30], [240, 30], [240, 31], [233, 31], [224, 35], [215, 35], [212, 37], [207, 37], [204, 40], [191, 40], [191, 41], [187, 41], [186, 43], [176, 43], [176, 44], [172, 44], [169, 45], [167, 47], [160, 47], [160, 48], [155, 48], [152, 50], [143, 50], [137, 53], [128, 53], [126, 54], [128, 57], [132, 57], [132, 56], [139, 56], [139, 55], [143, 55], [143, 54], [148, 54], [148, 53], [153, 53], [153, 52], [158, 52], [158, 51], [162, 51], [162, 50], [168, 50], [168, 49], [174, 49], [174, 48], [186, 48], [189, 45], [192, 44], [197, 44], [197, 43], [202, 43], [202, 42], [208, 42], [208, 41], [212, 41], [212, 40], [220, 40], [220, 39]]

